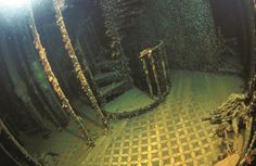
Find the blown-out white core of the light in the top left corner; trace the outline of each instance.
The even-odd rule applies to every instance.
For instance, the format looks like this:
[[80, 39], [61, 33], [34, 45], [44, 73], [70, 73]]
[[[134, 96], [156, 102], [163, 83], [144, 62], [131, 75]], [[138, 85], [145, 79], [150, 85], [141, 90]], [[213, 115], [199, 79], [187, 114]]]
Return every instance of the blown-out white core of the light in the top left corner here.
[[0, 8], [18, 9], [25, 8], [28, 0], [0, 0]]

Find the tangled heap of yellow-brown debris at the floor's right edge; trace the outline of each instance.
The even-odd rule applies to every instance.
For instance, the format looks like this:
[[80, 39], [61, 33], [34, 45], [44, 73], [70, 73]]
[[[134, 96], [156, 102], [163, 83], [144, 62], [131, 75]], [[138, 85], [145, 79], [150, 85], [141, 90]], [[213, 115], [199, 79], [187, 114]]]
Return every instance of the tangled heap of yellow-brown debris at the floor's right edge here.
[[249, 81], [246, 93], [232, 93], [228, 100], [222, 103], [209, 116], [203, 120], [209, 120], [218, 125], [215, 136], [221, 138], [220, 146], [221, 165], [232, 155], [239, 155], [240, 159], [230, 165], [249, 165], [255, 162], [255, 108], [256, 108], [256, 76]]

